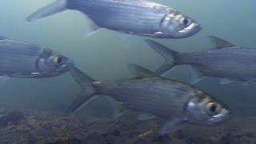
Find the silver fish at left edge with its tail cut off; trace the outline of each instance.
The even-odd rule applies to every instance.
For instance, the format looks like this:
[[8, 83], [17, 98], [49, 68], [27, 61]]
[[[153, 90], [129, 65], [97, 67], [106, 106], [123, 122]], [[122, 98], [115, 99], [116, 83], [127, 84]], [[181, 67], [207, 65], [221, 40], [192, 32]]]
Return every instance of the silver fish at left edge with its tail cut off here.
[[0, 39], [0, 76], [16, 78], [47, 78], [68, 71], [72, 62], [43, 46]]

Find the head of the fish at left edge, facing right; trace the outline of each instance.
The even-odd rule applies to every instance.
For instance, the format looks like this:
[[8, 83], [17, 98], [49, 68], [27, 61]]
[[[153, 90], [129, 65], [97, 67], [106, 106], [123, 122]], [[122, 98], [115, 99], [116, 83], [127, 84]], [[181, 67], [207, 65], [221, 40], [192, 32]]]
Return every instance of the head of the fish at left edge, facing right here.
[[43, 48], [42, 52], [36, 62], [38, 74], [42, 77], [53, 77], [68, 71], [68, 65], [72, 62], [69, 58], [54, 52], [53, 50]]

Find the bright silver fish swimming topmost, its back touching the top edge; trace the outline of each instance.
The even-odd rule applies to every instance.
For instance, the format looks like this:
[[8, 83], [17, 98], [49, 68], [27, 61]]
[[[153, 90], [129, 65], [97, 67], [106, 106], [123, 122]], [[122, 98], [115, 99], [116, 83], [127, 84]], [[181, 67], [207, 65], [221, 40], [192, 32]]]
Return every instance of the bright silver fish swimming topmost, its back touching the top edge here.
[[27, 21], [64, 10], [78, 10], [90, 19], [87, 36], [101, 28], [154, 38], [187, 38], [201, 30], [197, 22], [177, 10], [144, 0], [58, 0]]

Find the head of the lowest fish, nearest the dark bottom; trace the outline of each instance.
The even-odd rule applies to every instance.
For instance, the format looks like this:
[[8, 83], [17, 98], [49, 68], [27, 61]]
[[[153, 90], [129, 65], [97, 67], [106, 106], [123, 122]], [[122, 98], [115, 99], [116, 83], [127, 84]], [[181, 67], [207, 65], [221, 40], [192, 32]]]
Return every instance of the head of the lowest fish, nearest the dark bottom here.
[[231, 115], [227, 106], [200, 90], [190, 99], [185, 110], [187, 121], [200, 125], [216, 125]]

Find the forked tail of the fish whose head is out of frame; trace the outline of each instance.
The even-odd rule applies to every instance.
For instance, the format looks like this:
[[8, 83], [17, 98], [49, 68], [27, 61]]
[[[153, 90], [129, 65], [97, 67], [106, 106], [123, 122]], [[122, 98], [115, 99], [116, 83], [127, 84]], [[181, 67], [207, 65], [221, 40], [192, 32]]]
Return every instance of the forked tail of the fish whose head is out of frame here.
[[158, 54], [165, 58], [165, 62], [158, 68], [158, 70], [155, 71], [155, 74], [165, 74], [168, 70], [175, 66], [175, 58], [178, 54], [177, 51], [171, 50], [170, 48], [150, 39], [146, 39], [145, 41], [152, 49], [156, 50]]

